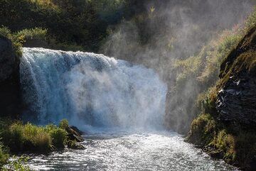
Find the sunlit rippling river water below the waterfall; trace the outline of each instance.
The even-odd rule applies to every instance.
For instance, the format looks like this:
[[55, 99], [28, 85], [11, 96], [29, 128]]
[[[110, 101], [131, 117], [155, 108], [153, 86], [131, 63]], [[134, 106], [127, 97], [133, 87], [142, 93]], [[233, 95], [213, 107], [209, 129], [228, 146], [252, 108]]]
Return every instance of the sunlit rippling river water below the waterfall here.
[[91, 133], [85, 150], [33, 156], [33, 170], [236, 170], [176, 133]]

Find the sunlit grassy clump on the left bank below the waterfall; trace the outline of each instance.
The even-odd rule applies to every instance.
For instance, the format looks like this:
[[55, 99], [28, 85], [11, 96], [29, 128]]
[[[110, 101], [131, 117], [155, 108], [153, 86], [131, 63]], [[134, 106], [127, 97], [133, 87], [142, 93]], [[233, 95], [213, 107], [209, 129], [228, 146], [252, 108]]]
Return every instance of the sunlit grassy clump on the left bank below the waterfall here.
[[[33, 153], [48, 153], [52, 150], [64, 148], [68, 133], [65, 129], [52, 124], [36, 126], [21, 121], [0, 122], [3, 144], [13, 152], [31, 151]], [[65, 120], [65, 123], [66, 122]]]

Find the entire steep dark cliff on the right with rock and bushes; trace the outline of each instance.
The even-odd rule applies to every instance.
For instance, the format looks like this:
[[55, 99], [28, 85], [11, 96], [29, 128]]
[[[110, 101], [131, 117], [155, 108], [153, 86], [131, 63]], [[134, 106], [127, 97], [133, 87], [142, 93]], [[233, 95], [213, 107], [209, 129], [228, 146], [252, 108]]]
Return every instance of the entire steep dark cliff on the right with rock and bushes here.
[[220, 66], [220, 80], [203, 101], [186, 140], [242, 170], [256, 167], [256, 28]]

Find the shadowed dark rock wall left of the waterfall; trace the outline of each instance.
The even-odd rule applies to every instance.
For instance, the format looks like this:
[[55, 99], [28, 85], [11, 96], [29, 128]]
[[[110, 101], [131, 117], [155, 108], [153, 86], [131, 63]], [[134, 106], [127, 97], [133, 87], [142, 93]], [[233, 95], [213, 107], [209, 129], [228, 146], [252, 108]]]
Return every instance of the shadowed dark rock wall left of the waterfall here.
[[0, 36], [0, 115], [14, 116], [20, 108], [19, 57], [11, 40]]

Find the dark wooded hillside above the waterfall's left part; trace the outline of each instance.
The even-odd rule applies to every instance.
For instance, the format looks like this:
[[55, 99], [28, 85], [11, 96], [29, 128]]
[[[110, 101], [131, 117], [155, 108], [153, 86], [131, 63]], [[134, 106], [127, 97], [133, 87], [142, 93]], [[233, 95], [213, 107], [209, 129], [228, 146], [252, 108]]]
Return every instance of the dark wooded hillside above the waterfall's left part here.
[[[97, 51], [107, 37], [108, 26], [119, 23], [129, 2], [90, 0], [3, 0], [0, 26], [21, 33], [26, 40], [62, 50]], [[30, 41], [29, 41], [30, 42]]]

